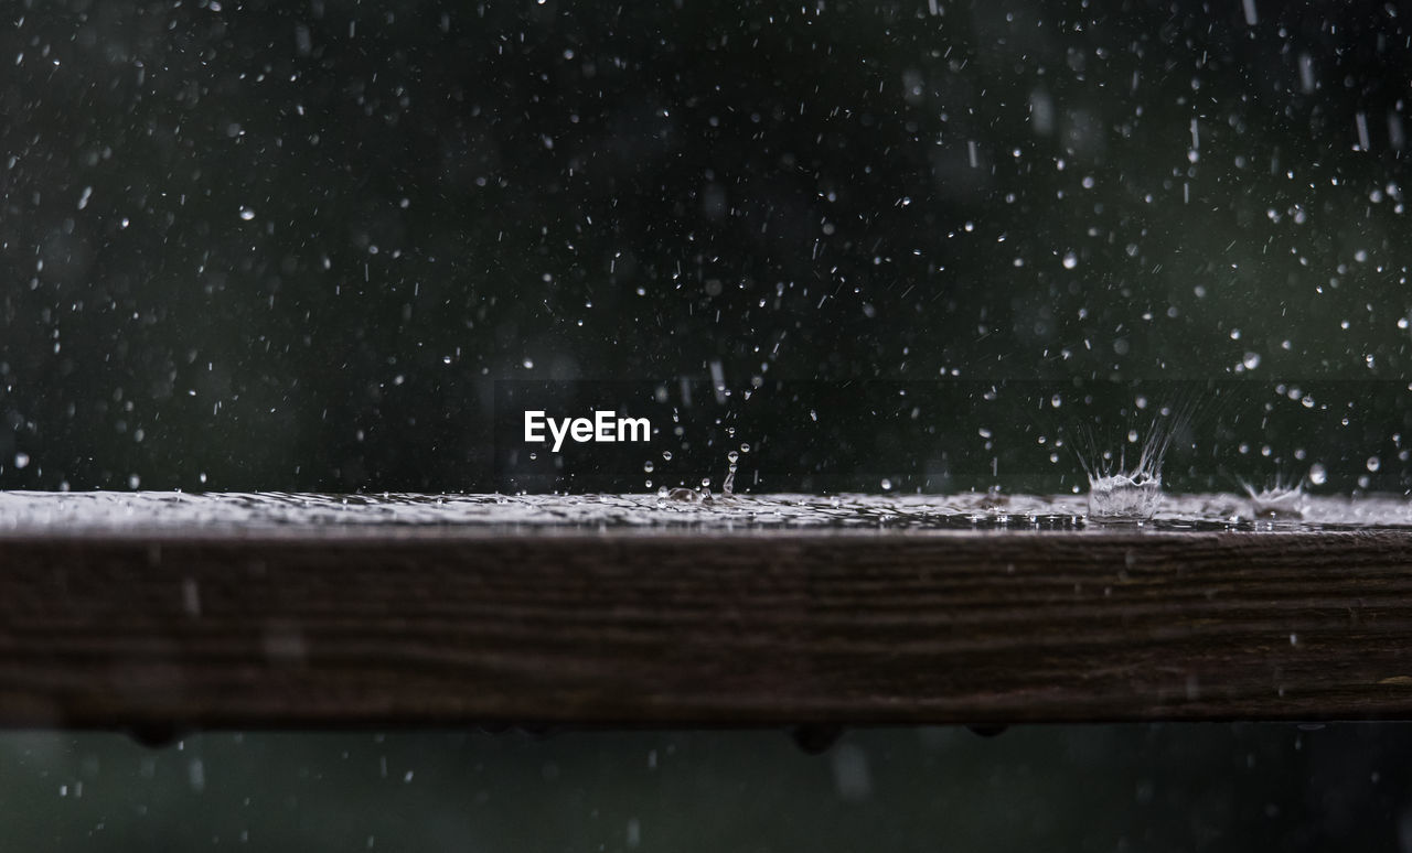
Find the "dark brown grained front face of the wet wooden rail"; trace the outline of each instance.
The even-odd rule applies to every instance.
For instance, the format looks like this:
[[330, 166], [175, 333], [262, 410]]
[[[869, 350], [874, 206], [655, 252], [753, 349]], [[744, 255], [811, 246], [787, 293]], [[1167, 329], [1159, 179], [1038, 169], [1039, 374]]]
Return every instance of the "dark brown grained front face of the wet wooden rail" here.
[[0, 725], [1412, 718], [1412, 533], [0, 537]]

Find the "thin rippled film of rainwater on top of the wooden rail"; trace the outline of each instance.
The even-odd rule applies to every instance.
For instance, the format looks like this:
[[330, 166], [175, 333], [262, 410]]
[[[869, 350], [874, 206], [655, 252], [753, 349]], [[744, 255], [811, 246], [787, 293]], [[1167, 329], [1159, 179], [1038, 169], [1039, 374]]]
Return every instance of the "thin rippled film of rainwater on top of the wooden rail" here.
[[[1093, 530], [1089, 495], [0, 492], [0, 534], [441, 527], [467, 532]], [[1165, 495], [1144, 530], [1412, 529], [1402, 496]]]

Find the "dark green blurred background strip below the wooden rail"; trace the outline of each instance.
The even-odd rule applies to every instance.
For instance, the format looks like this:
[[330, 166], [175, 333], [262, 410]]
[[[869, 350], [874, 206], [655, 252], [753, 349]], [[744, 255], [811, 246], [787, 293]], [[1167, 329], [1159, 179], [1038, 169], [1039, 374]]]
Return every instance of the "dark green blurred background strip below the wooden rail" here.
[[[0, 736], [6, 850], [1358, 850], [1412, 845], [1406, 728]], [[271, 773], [278, 768], [280, 773]]]

